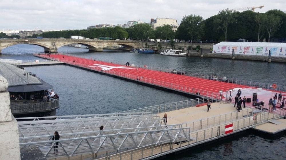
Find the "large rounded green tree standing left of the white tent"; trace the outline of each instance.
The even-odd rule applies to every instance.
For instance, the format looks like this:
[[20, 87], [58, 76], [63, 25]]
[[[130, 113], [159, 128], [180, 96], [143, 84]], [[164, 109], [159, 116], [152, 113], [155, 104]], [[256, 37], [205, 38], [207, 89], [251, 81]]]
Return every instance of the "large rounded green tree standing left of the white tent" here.
[[[194, 39], [198, 40], [204, 34], [204, 22], [200, 15], [188, 15], [182, 18], [182, 22], [178, 28], [179, 34], [187, 34], [191, 43]], [[192, 44], [191, 44], [192, 46]]]

